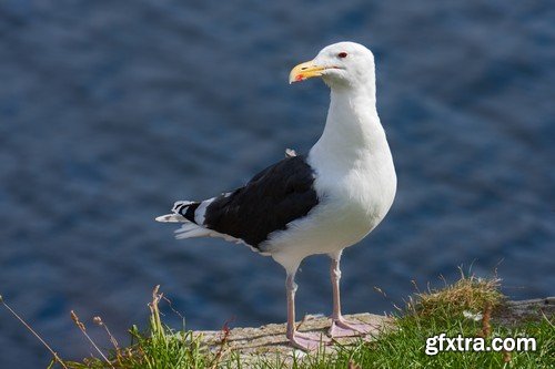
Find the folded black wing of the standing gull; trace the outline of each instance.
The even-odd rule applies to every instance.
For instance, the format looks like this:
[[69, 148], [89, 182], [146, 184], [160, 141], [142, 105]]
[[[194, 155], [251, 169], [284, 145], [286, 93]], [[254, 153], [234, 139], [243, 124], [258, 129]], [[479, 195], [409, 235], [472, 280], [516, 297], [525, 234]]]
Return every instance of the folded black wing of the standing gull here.
[[206, 228], [259, 247], [274, 230], [317, 205], [314, 171], [304, 156], [286, 157], [256, 174], [244, 187], [215, 198], [204, 215]]

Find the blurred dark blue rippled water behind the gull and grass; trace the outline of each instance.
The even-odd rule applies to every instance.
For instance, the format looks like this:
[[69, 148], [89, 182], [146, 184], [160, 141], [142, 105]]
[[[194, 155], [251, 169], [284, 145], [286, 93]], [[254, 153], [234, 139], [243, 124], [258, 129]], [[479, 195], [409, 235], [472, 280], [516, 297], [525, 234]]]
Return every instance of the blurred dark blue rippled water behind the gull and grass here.
[[[159, 284], [192, 329], [284, 321], [272, 259], [153, 218], [307, 152], [329, 91], [287, 74], [342, 40], [375, 53], [398, 176], [344, 255], [345, 311], [391, 311], [460, 265], [554, 295], [555, 7], [502, 0], [2, 1], [0, 294], [68, 359], [91, 351], [71, 309], [129, 344]], [[299, 315], [331, 311], [327, 264], [303, 264]], [[0, 367], [49, 360], [1, 309]]]

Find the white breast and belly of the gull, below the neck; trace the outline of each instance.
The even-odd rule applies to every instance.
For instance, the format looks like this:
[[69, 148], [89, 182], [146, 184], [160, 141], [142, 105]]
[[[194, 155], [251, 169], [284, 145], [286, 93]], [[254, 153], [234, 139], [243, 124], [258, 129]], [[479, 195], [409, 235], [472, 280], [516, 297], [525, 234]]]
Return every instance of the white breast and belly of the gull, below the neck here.
[[382, 222], [393, 203], [396, 176], [389, 151], [367, 157], [359, 167], [316, 162], [311, 152], [309, 163], [319, 167], [314, 186], [320, 204], [286, 230], [272, 234], [265, 248], [282, 265], [356, 244]]

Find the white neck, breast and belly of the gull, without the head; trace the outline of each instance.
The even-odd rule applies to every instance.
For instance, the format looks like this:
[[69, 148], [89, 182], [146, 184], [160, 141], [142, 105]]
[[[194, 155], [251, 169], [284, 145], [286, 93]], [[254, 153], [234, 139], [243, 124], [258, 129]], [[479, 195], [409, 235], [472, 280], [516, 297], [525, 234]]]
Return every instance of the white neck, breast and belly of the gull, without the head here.
[[316, 170], [321, 203], [262, 247], [287, 271], [309, 255], [334, 255], [354, 245], [393, 204], [395, 168], [373, 89], [332, 91], [324, 133], [307, 161]]

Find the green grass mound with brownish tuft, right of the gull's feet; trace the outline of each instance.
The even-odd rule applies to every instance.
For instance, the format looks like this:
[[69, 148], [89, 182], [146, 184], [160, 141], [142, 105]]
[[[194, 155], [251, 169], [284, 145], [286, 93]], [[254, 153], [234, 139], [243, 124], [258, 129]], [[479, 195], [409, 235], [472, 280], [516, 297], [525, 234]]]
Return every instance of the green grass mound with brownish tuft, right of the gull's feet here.
[[[418, 293], [410, 299], [395, 325], [372, 342], [342, 348], [336, 355], [325, 352], [309, 357], [295, 368], [554, 368], [555, 327], [553, 317], [542, 317], [519, 326], [505, 327], [492, 321], [491, 315], [503, 308], [505, 298], [497, 279], [461, 277], [443, 289]], [[477, 321], [464, 316], [477, 314]], [[549, 319], [552, 321], [549, 321]], [[445, 332], [447, 337], [534, 337], [534, 352], [438, 352], [425, 353], [426, 339]], [[261, 365], [259, 368], [273, 368]]]

